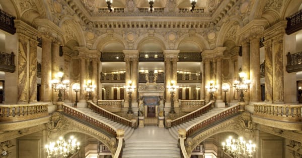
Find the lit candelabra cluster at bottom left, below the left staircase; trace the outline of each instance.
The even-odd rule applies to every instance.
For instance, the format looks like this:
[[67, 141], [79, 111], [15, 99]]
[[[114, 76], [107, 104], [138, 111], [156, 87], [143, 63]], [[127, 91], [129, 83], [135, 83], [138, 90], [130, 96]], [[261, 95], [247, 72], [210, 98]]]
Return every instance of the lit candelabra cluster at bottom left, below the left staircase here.
[[54, 157], [67, 157], [70, 153], [74, 154], [80, 149], [80, 142], [77, 142], [73, 136], [70, 136], [68, 142], [65, 142], [63, 137], [59, 137], [59, 140], [55, 142], [50, 142], [45, 145], [47, 158]]

